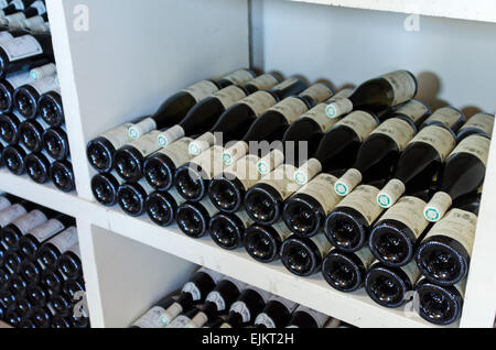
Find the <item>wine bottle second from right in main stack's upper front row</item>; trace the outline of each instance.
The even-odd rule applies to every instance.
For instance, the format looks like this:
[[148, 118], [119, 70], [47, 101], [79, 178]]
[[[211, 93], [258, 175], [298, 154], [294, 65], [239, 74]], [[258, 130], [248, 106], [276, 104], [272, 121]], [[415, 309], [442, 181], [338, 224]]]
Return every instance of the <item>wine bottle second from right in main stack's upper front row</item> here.
[[369, 248], [374, 256], [387, 266], [405, 266], [412, 259], [429, 221], [423, 217], [425, 201], [402, 197], [374, 226]]

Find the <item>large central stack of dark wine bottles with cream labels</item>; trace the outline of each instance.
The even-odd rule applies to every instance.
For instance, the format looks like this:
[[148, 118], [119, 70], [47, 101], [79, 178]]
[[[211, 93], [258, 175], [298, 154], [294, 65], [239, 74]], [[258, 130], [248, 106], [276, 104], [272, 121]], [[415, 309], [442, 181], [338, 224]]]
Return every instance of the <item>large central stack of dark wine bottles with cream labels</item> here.
[[336, 94], [280, 80], [201, 81], [93, 140], [95, 198], [382, 306], [417, 291], [421, 317], [454, 322], [494, 116], [432, 112], [407, 70]]

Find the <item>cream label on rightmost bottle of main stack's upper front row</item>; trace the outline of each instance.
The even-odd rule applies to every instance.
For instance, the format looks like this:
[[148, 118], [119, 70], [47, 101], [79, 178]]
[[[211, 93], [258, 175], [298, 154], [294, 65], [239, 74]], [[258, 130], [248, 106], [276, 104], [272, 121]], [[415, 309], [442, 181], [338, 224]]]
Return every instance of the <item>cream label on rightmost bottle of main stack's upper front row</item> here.
[[477, 216], [462, 209], [452, 209], [429, 231], [425, 239], [434, 236], [449, 237], [460, 242], [472, 254], [474, 247]]

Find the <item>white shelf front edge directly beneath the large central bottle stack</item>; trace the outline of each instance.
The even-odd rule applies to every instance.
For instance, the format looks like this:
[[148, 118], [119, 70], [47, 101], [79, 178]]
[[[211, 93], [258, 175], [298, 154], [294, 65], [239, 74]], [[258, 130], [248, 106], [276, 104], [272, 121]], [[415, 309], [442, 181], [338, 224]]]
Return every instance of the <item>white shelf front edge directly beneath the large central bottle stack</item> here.
[[[357, 327], [422, 328], [433, 325], [403, 308], [388, 309], [369, 299], [364, 291], [353, 294], [331, 288], [320, 274], [302, 278], [289, 273], [280, 262], [261, 264], [242, 249], [226, 251], [209, 237], [184, 236], [176, 227], [161, 228], [147, 217], [131, 218], [117, 209], [106, 209], [108, 229], [128, 239], [162, 250], [195, 264], [314, 308]], [[453, 325], [452, 327], [457, 327]]]

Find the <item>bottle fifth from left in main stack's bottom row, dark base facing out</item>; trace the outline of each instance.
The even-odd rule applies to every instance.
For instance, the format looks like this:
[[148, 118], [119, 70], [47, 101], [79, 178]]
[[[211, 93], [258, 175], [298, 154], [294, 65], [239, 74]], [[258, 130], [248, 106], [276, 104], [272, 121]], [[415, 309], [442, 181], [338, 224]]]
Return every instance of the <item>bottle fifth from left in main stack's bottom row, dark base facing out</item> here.
[[212, 240], [220, 248], [235, 250], [245, 244], [245, 231], [254, 221], [245, 210], [236, 214], [217, 214], [209, 222]]

